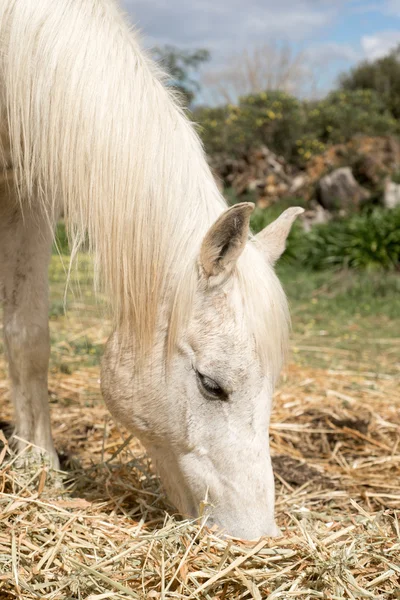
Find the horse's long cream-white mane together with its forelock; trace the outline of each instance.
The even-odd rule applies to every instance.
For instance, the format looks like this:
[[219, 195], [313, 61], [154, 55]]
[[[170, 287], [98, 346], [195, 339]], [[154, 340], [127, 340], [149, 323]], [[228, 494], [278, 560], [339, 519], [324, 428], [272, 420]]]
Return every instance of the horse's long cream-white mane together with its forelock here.
[[[88, 234], [116, 322], [143, 355], [169, 296], [173, 345], [201, 239], [225, 206], [193, 126], [112, 0], [4, 0], [0, 40], [0, 114], [21, 201], [39, 198], [50, 220], [62, 203], [74, 251]], [[279, 369], [281, 288], [251, 248], [238, 270], [255, 335]]]

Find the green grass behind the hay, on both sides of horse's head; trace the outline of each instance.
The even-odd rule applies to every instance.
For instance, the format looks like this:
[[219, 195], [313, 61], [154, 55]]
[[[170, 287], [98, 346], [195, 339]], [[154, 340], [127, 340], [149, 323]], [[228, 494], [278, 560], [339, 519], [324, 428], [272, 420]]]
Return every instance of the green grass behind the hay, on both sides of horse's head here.
[[[52, 368], [63, 372], [98, 364], [110, 331], [105, 303], [95, 298], [91, 259], [72, 271], [64, 313], [69, 257], [50, 265]], [[396, 273], [308, 271], [277, 267], [293, 323], [292, 360], [302, 365], [398, 373], [400, 276]]]

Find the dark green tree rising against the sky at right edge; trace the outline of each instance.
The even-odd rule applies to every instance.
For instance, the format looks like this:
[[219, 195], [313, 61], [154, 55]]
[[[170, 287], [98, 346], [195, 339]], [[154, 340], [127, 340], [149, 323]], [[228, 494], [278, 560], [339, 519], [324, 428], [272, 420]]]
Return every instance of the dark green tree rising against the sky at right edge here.
[[339, 79], [343, 90], [373, 90], [396, 118], [400, 118], [400, 45], [388, 56], [365, 60]]

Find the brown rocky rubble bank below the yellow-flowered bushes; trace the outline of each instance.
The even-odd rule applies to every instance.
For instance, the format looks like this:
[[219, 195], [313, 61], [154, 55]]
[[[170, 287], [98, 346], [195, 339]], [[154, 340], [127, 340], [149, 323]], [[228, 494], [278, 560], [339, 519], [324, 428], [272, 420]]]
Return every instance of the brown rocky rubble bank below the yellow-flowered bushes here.
[[[315, 201], [319, 201], [327, 210], [347, 211], [357, 209], [371, 192], [374, 197], [380, 195], [384, 205], [393, 204], [397, 192], [393, 186], [385, 187], [385, 182], [400, 174], [400, 141], [392, 136], [359, 135], [327, 148], [302, 169], [266, 146], [240, 158], [215, 155], [210, 164], [221, 188], [232, 188], [239, 198], [250, 192], [262, 208], [294, 197], [310, 208], [315, 209]], [[332, 183], [330, 178], [336, 170], [339, 175]]]

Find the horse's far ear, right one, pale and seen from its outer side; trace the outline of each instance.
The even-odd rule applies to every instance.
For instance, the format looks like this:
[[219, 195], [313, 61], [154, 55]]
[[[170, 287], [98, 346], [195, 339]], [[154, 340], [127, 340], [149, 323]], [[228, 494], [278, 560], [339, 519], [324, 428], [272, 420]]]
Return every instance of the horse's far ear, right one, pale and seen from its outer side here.
[[275, 221], [256, 235], [261, 250], [272, 265], [283, 254], [286, 248], [286, 238], [296, 217], [304, 212], [300, 206], [292, 206], [285, 210]]

